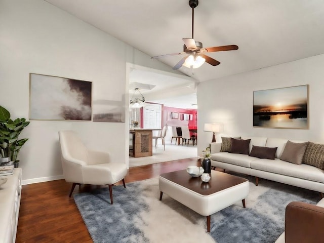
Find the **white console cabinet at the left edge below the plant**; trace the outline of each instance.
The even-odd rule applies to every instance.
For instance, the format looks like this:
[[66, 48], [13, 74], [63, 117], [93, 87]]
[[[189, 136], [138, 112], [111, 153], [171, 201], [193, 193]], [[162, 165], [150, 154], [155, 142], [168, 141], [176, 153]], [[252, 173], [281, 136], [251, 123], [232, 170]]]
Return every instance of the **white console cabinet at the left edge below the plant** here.
[[20, 198], [21, 198], [21, 168], [15, 168], [7, 182], [0, 186], [0, 243], [15, 243]]

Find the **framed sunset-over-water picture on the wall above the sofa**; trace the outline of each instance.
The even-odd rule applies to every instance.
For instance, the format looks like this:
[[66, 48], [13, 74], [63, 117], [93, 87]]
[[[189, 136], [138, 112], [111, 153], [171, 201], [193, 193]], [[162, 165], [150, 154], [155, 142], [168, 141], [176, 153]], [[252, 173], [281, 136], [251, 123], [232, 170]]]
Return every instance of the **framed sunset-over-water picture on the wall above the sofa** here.
[[308, 85], [253, 92], [253, 126], [307, 129]]

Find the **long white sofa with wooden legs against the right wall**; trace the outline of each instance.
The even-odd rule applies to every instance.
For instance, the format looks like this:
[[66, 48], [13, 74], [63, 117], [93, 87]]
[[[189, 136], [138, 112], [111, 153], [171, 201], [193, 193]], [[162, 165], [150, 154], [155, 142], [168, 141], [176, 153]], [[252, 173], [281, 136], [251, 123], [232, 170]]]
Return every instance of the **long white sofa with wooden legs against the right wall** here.
[[[258, 158], [248, 154], [220, 152], [222, 142], [216, 142], [210, 144], [212, 167], [255, 176], [256, 184], [258, 184], [258, 178], [264, 178], [321, 193], [324, 192], [323, 170], [314, 166], [306, 164], [296, 165], [279, 159], [289, 139], [266, 137], [241, 137], [241, 139], [251, 139], [249, 145], [250, 152], [252, 145], [277, 147], [275, 159]], [[295, 143], [307, 142], [290, 141]]]

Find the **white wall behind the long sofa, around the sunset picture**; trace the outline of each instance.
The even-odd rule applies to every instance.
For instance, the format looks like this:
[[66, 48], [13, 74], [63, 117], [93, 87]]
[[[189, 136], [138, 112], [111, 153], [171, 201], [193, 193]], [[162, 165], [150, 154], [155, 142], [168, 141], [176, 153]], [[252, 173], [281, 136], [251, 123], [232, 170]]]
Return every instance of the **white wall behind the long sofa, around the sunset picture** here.
[[[205, 123], [223, 124], [223, 134], [309, 140], [324, 143], [324, 55], [280, 64], [200, 83], [198, 102], [198, 154], [212, 140]], [[217, 68], [217, 67], [216, 67]], [[253, 91], [309, 85], [309, 129], [253, 127]], [[221, 134], [216, 140], [220, 141]]]

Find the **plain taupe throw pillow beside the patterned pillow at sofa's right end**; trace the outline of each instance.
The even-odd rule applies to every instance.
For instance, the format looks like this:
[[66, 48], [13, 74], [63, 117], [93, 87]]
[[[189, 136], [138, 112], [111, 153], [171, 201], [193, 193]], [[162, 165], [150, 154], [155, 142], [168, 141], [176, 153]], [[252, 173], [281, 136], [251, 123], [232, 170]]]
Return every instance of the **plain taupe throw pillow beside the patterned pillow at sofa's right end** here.
[[282, 152], [280, 159], [296, 165], [301, 165], [307, 145], [308, 142], [293, 143], [291, 141], [287, 141], [286, 147], [284, 152]]

